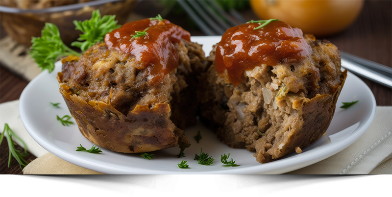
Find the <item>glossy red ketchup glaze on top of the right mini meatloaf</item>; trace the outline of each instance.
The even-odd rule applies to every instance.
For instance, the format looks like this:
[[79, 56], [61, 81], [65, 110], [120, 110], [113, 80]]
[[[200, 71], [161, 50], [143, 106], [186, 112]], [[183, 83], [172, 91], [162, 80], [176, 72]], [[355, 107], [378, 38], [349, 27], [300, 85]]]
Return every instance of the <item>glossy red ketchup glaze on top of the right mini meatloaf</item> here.
[[218, 73], [227, 69], [229, 81], [235, 86], [243, 81], [245, 70], [261, 64], [296, 62], [311, 54], [301, 29], [281, 21], [253, 30], [258, 26], [258, 23], [248, 23], [231, 27], [218, 43], [215, 68]]

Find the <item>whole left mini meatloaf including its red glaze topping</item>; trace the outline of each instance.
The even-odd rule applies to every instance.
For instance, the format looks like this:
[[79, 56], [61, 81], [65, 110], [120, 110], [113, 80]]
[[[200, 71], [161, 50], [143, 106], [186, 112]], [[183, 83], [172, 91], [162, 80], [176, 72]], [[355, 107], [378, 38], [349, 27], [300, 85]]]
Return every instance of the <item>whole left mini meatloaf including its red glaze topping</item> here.
[[196, 123], [197, 75], [206, 68], [201, 47], [167, 20], [131, 22], [63, 59], [59, 91], [81, 133], [102, 148], [184, 150], [183, 129]]

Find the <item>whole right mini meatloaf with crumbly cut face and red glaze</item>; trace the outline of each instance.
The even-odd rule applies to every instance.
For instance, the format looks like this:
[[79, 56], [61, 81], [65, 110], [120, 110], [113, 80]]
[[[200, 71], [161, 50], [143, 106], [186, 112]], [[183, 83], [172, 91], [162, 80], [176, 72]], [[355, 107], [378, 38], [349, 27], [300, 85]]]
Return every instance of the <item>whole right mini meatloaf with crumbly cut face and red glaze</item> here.
[[281, 21], [229, 28], [200, 78], [201, 119], [229, 147], [267, 163], [309, 146], [331, 123], [346, 71], [340, 52]]

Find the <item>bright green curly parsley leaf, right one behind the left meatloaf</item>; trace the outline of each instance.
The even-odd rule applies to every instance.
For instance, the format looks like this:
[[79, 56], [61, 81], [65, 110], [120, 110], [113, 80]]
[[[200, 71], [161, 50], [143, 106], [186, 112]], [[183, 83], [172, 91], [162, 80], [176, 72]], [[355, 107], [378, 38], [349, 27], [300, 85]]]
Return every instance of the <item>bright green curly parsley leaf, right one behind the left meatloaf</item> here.
[[[78, 41], [71, 43], [71, 46], [80, 48], [83, 52], [104, 39], [105, 34], [119, 28], [117, 21], [114, 19], [116, 15], [105, 15], [101, 18], [99, 10], [94, 10], [91, 19], [85, 21], [73, 21], [76, 30], [80, 30], [83, 34], [79, 35]], [[83, 41], [83, 42], [79, 42]]]

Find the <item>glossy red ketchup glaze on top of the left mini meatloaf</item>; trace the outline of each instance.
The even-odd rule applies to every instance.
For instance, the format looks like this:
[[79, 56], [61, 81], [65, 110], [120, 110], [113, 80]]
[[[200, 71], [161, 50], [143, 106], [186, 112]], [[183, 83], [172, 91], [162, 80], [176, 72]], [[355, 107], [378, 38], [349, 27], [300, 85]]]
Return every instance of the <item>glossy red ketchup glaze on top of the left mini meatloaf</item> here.
[[[135, 31], [146, 30], [147, 35], [133, 38]], [[174, 43], [191, 41], [191, 34], [168, 20], [144, 19], [124, 24], [105, 35], [108, 49], [116, 49], [134, 56], [137, 69], [147, 69], [148, 81], [158, 82], [178, 66]]]

